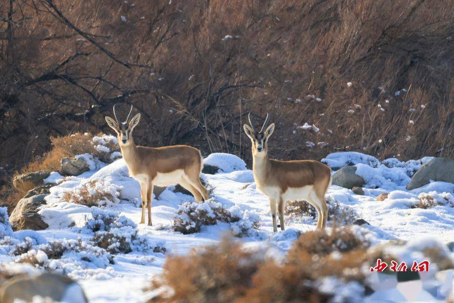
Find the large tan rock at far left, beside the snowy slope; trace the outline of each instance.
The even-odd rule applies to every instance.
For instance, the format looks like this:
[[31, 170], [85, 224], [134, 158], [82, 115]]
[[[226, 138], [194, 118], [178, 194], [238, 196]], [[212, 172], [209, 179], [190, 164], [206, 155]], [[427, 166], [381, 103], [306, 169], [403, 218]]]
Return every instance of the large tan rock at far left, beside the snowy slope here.
[[38, 214], [38, 208], [45, 204], [46, 195], [34, 195], [22, 198], [14, 208], [9, 221], [14, 230], [32, 229], [42, 230], [49, 227]]

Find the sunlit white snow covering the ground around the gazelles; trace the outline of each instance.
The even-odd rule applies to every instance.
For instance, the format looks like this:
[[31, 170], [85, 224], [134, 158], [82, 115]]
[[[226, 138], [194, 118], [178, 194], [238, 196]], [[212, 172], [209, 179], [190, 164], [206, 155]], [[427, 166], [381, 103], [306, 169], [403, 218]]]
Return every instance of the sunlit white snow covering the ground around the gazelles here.
[[[141, 216], [140, 185], [128, 176], [124, 160], [118, 159], [106, 165], [92, 157], [85, 157], [92, 161], [91, 171], [66, 178], [52, 173], [47, 179], [47, 182], [56, 183], [50, 190], [51, 194], [45, 198], [47, 204], [40, 210], [41, 216], [49, 225], [48, 229], [13, 233], [2, 231], [0, 224], [0, 236], [2, 233], [7, 238], [9, 236], [10, 242], [15, 245], [23, 245], [24, 240], [38, 246], [52, 241], [77, 246], [79, 244], [75, 242], [78, 238], [81, 238], [82, 243], [88, 241], [96, 234], [93, 228], [90, 229], [93, 224], [92, 213], [96, 214], [96, 208], [75, 204], [71, 200], [62, 202], [62, 199], [68, 191], [77, 196], [84, 185], [90, 182], [96, 184], [95, 189], [112, 197], [102, 201], [101, 208], [106, 213], [113, 212], [114, 216], [122, 216], [119, 222], [113, 223], [116, 225], [112, 228], [116, 228], [125, 237], [132, 237], [132, 252], [113, 254], [112, 264], [109, 261], [111, 256], [100, 255], [96, 252], [96, 247], [87, 246], [81, 252], [76, 250], [72, 257], [52, 260], [48, 264], [57, 272], [64, 272], [79, 281], [91, 302], [143, 302], [147, 298], [143, 289], [153, 276], [161, 272], [167, 254], [186, 254], [191, 248], [216, 243], [232, 230], [231, 223], [218, 223], [203, 226], [196, 234], [174, 232], [173, 220], [179, 205], [192, 201], [193, 198], [174, 193], [173, 187], [167, 188], [158, 199], [153, 199], [153, 226], [138, 224]], [[369, 222], [370, 225], [356, 228], [366, 232], [374, 244], [391, 239], [422, 241], [427, 237], [442, 243], [452, 242], [454, 199], [450, 194], [454, 193], [454, 184], [433, 182], [412, 191], [405, 189], [413, 173], [428, 160], [430, 158], [408, 162], [388, 159], [380, 162], [374, 157], [354, 152], [330, 154], [324, 162], [333, 169], [356, 165], [357, 174], [363, 176], [367, 185], [365, 195], [355, 195], [351, 190], [333, 185], [328, 191], [327, 199], [336, 200], [341, 207], [350, 207], [357, 218]], [[298, 231], [315, 229], [316, 220], [310, 217], [287, 217], [287, 230], [273, 234], [268, 199], [257, 191], [252, 171], [246, 169], [244, 162], [228, 154], [210, 155], [206, 162], [222, 168], [221, 173], [202, 175], [214, 188], [214, 200], [232, 213], [250, 213], [260, 218], [257, 232], [242, 238], [246, 247], [272, 246], [275, 251], [285, 254], [298, 237]], [[388, 198], [377, 201], [377, 195], [382, 193], [389, 193]], [[429, 209], [412, 208], [417, 204], [421, 193], [447, 193], [444, 196], [448, 196], [448, 204]], [[103, 228], [101, 230], [103, 232]], [[165, 254], [153, 252], [153, 248], [157, 246], [164, 246]], [[0, 262], [13, 264], [20, 258], [12, 255], [10, 250], [8, 245], [0, 244]], [[38, 256], [39, 250], [35, 254], [44, 263], [48, 262], [47, 257]]]

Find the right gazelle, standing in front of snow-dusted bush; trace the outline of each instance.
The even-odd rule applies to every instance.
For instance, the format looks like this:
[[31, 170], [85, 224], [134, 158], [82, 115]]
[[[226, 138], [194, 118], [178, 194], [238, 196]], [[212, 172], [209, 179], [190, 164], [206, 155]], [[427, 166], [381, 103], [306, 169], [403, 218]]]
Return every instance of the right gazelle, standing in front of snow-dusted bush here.
[[268, 158], [268, 139], [274, 131], [274, 123], [263, 131], [268, 113], [260, 131], [249, 124], [243, 128], [252, 142], [252, 170], [257, 188], [269, 198], [273, 230], [276, 226], [276, 204], [279, 211], [281, 230], [284, 228], [284, 208], [287, 201], [306, 200], [318, 212], [317, 228], [324, 229], [328, 219], [325, 194], [331, 185], [331, 169], [318, 161], [279, 161]]

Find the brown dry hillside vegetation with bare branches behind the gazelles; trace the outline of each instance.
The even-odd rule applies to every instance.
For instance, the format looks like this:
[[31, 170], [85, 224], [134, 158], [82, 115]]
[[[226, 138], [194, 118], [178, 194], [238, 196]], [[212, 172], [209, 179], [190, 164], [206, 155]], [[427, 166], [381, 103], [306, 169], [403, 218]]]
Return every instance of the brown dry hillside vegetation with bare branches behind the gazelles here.
[[277, 123], [277, 158], [454, 150], [451, 0], [9, 0], [0, 15], [7, 172], [51, 136], [110, 133], [116, 103], [142, 113], [137, 143], [246, 160], [249, 110]]

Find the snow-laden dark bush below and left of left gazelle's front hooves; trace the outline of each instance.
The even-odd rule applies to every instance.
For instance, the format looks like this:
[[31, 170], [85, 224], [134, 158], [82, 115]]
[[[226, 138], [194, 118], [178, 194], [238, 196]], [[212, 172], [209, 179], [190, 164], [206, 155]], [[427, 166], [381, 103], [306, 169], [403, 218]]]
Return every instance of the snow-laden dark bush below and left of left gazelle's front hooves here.
[[152, 244], [137, 233], [137, 224], [117, 212], [92, 207], [92, 218], [88, 219], [83, 231], [94, 233], [92, 241], [111, 254], [131, 251], [165, 252], [163, 243]]

